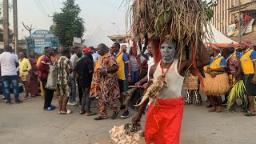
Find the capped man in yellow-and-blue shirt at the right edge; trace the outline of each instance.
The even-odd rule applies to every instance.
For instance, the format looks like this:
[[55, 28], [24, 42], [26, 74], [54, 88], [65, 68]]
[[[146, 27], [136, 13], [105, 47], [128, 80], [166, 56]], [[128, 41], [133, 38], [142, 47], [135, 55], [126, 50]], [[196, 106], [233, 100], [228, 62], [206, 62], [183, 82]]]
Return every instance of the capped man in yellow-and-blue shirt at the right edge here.
[[249, 110], [245, 110], [246, 116], [255, 116], [254, 95], [256, 95], [256, 52], [251, 50], [250, 41], [241, 43], [242, 55], [240, 58], [243, 80], [246, 85], [246, 95], [248, 96]]

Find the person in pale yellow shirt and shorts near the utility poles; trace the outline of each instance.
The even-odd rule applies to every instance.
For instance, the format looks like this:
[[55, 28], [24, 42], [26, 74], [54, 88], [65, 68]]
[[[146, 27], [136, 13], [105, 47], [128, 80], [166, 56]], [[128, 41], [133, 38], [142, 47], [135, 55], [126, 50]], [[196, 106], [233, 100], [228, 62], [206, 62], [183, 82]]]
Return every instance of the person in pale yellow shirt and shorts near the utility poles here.
[[23, 85], [25, 86], [26, 95], [23, 100], [30, 98], [29, 97], [29, 79], [30, 79], [30, 70], [32, 66], [30, 65], [30, 61], [25, 58], [25, 54], [23, 52], [19, 53], [19, 78]]

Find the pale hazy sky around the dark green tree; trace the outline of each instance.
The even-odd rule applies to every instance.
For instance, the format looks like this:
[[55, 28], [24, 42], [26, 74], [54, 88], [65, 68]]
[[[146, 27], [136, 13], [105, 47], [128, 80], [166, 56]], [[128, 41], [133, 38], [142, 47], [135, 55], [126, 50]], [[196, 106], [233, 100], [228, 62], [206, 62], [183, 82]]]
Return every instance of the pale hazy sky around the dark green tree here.
[[[9, 2], [11, 3], [12, 0]], [[49, 30], [50, 25], [53, 24], [50, 16], [54, 12], [61, 11], [62, 2], [65, 0], [18, 0], [18, 37], [29, 36], [22, 22], [28, 26], [32, 25], [34, 30]], [[75, 2], [80, 6], [82, 10], [80, 16], [85, 21], [84, 38], [88, 38], [93, 33], [97, 24], [108, 35], [118, 34], [118, 28], [120, 34], [126, 34], [127, 10], [126, 6], [121, 6], [122, 0], [75, 0]], [[12, 10], [9, 17], [10, 29], [13, 30]]]

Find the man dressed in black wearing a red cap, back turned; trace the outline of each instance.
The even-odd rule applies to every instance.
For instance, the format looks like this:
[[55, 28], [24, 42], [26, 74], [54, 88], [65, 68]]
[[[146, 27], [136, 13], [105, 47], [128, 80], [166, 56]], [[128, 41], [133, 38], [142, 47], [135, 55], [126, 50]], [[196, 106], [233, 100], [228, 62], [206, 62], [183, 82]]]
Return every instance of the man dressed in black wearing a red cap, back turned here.
[[[94, 60], [91, 54], [94, 53], [89, 47], [83, 50], [85, 57], [81, 58], [76, 66], [76, 72], [78, 74], [78, 82], [82, 86], [82, 102], [80, 114], [95, 115], [90, 111], [90, 85], [94, 73]], [[86, 110], [85, 110], [86, 106]]]

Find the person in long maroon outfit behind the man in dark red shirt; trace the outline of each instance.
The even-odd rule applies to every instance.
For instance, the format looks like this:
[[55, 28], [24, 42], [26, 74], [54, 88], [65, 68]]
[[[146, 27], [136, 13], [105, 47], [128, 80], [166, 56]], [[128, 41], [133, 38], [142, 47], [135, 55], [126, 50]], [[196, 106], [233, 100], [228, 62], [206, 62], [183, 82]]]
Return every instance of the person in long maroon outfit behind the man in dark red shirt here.
[[32, 66], [32, 71], [30, 73], [30, 94], [31, 97], [40, 96], [38, 94], [38, 68], [37, 58], [35, 58], [34, 51], [30, 51], [30, 65]]

